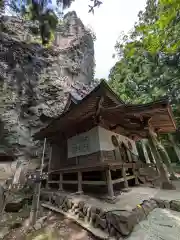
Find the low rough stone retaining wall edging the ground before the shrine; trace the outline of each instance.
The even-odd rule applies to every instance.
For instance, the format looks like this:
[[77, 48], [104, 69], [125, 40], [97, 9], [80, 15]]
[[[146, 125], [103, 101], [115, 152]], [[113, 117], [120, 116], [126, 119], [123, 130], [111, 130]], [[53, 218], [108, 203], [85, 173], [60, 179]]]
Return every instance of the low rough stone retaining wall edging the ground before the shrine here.
[[[43, 198], [46, 197], [47, 199], [45, 195]], [[74, 202], [73, 198], [62, 196], [58, 193], [53, 193], [50, 202], [63, 212], [71, 213], [77, 219], [89, 223], [94, 228], [100, 228], [107, 235], [115, 237], [115, 239], [130, 235], [134, 226], [144, 220], [155, 208], [168, 208], [180, 211], [180, 201], [177, 200], [144, 200], [131, 211], [118, 209], [104, 211], [101, 208], [90, 206], [84, 201]]]

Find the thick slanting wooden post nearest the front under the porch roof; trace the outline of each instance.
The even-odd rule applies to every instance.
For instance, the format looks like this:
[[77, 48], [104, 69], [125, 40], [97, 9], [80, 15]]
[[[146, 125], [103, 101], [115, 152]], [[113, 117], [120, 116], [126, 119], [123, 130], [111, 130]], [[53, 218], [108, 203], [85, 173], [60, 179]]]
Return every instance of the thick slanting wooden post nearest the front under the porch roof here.
[[160, 178], [161, 178], [161, 188], [163, 189], [175, 189], [175, 187], [173, 186], [173, 184], [171, 183], [169, 177], [168, 177], [168, 173], [166, 172], [164, 166], [163, 166], [163, 162], [161, 159], [161, 156], [157, 150], [157, 140], [156, 137], [154, 136], [153, 133], [150, 132], [149, 134], [149, 144], [150, 147], [153, 151], [153, 154], [155, 156], [155, 160], [156, 160], [156, 164], [157, 167], [159, 169], [160, 172]]

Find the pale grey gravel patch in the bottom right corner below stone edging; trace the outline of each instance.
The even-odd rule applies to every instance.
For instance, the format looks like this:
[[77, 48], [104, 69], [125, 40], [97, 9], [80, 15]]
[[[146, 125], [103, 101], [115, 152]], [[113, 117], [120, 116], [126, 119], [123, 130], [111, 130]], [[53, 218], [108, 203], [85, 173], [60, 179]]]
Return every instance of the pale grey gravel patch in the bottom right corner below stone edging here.
[[154, 209], [127, 240], [180, 240], [180, 212]]

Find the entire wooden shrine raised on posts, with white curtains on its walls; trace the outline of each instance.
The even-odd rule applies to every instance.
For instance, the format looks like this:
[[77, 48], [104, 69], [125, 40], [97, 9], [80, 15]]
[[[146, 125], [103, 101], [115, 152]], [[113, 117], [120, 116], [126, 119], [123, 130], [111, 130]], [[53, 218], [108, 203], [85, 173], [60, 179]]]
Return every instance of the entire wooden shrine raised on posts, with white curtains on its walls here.
[[141, 166], [135, 141], [176, 130], [167, 99], [125, 104], [102, 81], [80, 101], [69, 100], [64, 112], [34, 139], [51, 146], [47, 186], [98, 193], [138, 184]]

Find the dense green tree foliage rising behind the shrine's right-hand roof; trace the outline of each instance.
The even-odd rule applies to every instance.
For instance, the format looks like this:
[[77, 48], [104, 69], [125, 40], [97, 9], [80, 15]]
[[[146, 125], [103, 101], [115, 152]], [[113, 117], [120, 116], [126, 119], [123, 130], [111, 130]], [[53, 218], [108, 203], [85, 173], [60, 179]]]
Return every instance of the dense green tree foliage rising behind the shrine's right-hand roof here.
[[[164, 4], [166, 1], [162, 2]], [[179, 40], [176, 41], [177, 34], [166, 39], [165, 35], [160, 35], [159, 32], [155, 34], [149, 31], [159, 21], [157, 13], [160, 11], [160, 4], [156, 0], [148, 0], [145, 11], [139, 13], [139, 21], [134, 30], [128, 35], [123, 34], [117, 42], [115, 48], [119, 61], [111, 69], [109, 82], [126, 102], [146, 103], [167, 96], [179, 124], [180, 53], [177, 49], [170, 51], [171, 43]], [[171, 18], [174, 18], [172, 16], [173, 14]], [[169, 19], [168, 26], [166, 17], [158, 24], [158, 29], [166, 26], [166, 32], [173, 32], [174, 29], [180, 32], [178, 15], [173, 22]], [[162, 30], [162, 34], [166, 34], [163, 32]], [[166, 46], [168, 52], [160, 51], [164, 49], [163, 46]]]

